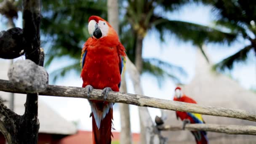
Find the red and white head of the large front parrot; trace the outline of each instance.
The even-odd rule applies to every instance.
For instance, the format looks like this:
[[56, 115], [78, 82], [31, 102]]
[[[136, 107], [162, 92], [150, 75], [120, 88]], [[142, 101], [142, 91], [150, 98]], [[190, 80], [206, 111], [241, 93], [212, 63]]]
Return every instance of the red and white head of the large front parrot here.
[[91, 37], [100, 39], [102, 37], [117, 37], [117, 33], [111, 25], [99, 16], [89, 18], [88, 31]]

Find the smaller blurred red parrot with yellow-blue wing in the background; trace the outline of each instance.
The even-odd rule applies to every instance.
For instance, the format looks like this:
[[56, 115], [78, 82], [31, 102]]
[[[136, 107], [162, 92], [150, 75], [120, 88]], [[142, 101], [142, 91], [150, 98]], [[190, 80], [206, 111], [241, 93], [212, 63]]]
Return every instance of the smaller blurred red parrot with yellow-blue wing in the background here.
[[[196, 104], [197, 102], [186, 96], [185, 94], [182, 95], [182, 91], [180, 87], [175, 88], [175, 96], [173, 101], [182, 101], [187, 103]], [[205, 123], [203, 120], [202, 115], [190, 113], [190, 112], [179, 112], [176, 111], [177, 119], [181, 119], [183, 121], [183, 129], [186, 123]], [[191, 133], [195, 136], [195, 141], [197, 144], [208, 144], [208, 138], [206, 131], [191, 131]]]

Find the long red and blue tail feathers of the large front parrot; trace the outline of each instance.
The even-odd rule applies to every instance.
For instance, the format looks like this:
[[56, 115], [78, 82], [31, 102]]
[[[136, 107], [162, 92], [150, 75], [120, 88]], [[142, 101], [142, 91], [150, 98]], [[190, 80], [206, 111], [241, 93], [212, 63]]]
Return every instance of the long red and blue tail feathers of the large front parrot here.
[[112, 103], [109, 103], [104, 104], [103, 107], [101, 106], [101, 109], [100, 107], [92, 108], [93, 144], [111, 144], [111, 136], [113, 136], [111, 133], [113, 119], [112, 105]]

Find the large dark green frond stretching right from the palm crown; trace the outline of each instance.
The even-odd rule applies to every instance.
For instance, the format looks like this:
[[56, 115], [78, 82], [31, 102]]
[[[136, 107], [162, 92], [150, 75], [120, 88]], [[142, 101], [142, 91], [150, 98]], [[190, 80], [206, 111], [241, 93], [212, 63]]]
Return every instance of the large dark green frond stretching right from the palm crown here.
[[161, 37], [168, 32], [176, 35], [180, 40], [192, 41], [195, 45], [202, 45], [207, 42], [230, 44], [237, 38], [236, 34], [186, 21], [168, 20], [157, 16], [155, 16], [154, 21], [156, 23], [153, 24]]

